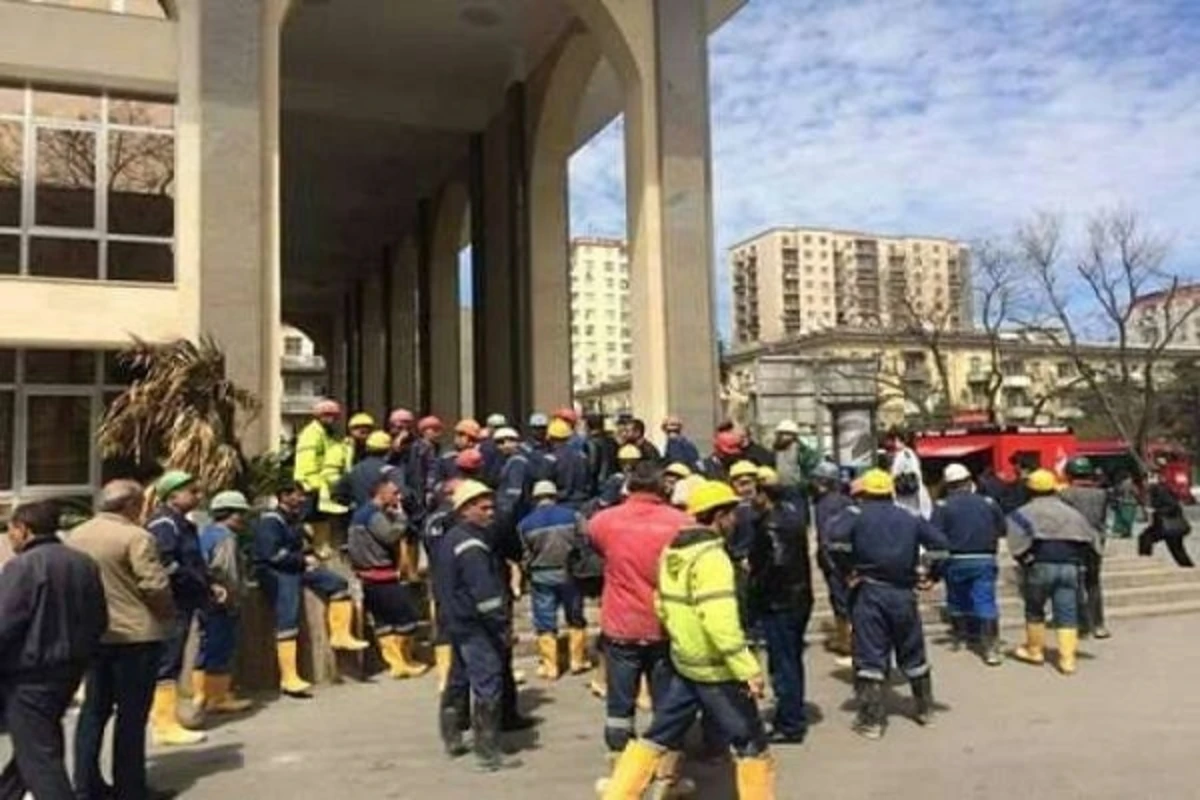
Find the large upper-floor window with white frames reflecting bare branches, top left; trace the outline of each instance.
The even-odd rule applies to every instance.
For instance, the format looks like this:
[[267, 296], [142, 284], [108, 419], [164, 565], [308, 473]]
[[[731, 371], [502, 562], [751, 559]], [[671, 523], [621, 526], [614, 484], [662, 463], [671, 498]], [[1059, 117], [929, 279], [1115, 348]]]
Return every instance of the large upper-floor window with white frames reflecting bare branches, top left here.
[[0, 275], [174, 281], [169, 102], [0, 86]]

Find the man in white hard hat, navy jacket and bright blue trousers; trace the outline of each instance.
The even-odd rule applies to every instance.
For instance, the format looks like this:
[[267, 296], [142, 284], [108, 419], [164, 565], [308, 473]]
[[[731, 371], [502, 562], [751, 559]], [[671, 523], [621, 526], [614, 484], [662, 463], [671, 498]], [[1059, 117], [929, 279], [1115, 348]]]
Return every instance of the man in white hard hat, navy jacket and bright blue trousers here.
[[947, 464], [942, 482], [946, 498], [934, 507], [932, 522], [950, 545], [943, 576], [952, 646], [959, 650], [978, 637], [984, 663], [998, 667], [996, 546], [1006, 533], [1004, 512], [998, 503], [974, 492], [971, 470], [962, 464]]

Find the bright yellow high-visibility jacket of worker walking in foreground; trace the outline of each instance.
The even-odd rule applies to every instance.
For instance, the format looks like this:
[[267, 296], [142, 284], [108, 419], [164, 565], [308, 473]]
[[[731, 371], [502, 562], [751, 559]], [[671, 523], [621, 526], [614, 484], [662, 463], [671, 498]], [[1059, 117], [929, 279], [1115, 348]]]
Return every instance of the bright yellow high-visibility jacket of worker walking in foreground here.
[[686, 528], [676, 536], [659, 561], [654, 602], [671, 637], [671, 662], [684, 678], [719, 684], [761, 672], [738, 619], [733, 563], [716, 531]]

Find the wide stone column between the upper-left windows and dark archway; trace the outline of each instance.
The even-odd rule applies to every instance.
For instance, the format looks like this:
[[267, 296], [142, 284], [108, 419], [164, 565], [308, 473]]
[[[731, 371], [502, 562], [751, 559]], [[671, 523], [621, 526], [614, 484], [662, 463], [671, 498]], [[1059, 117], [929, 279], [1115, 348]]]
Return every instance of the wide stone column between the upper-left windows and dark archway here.
[[[199, 330], [262, 413], [242, 445], [280, 434], [280, 31], [287, 0], [179, 1], [179, 229], [199, 273]], [[182, 234], [187, 230], [188, 233]], [[192, 240], [191, 237], [196, 239]]]

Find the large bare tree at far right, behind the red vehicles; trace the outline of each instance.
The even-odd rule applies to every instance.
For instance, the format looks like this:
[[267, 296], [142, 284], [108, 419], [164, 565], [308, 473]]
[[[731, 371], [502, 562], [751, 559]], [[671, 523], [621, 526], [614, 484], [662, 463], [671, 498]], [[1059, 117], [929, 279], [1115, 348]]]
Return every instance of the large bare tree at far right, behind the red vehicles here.
[[[1026, 308], [1030, 324], [1062, 348], [1091, 404], [1142, 458], [1164, 351], [1200, 308], [1194, 294], [1181, 291], [1180, 275], [1165, 266], [1166, 242], [1145, 230], [1135, 213], [1117, 210], [1088, 221], [1075, 257], [1062, 219], [1050, 213], [1021, 225], [1016, 245], [1036, 290]], [[1138, 301], [1151, 296], [1156, 311], [1147, 314]], [[1097, 341], [1112, 347], [1111, 363], [1097, 363], [1085, 353], [1084, 343]]]

